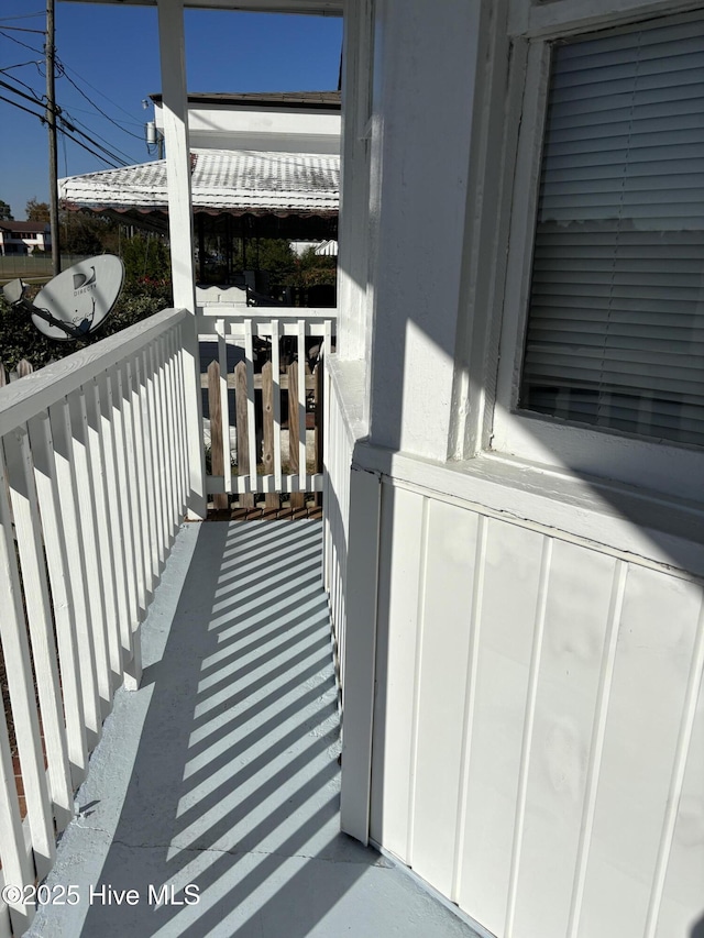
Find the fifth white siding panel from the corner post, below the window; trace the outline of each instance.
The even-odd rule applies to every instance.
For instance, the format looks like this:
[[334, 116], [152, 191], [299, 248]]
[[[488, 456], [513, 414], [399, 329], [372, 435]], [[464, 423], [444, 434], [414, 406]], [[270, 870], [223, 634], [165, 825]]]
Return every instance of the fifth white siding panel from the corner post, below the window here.
[[616, 650], [581, 938], [640, 938], [683, 715], [701, 588], [631, 566]]

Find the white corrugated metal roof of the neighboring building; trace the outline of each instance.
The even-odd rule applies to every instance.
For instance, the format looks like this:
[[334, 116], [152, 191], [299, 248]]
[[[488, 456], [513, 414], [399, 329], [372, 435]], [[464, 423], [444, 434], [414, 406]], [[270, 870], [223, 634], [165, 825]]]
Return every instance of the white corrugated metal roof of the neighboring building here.
[[[234, 214], [337, 214], [340, 157], [309, 153], [194, 150], [194, 210]], [[59, 179], [69, 206], [167, 209], [166, 161]]]

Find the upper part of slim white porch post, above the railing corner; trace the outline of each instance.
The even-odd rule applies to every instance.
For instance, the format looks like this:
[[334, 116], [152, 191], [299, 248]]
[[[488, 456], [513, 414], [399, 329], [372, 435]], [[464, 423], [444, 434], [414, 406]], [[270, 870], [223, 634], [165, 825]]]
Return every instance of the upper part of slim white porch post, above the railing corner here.
[[183, 0], [158, 0], [174, 306], [196, 311]]

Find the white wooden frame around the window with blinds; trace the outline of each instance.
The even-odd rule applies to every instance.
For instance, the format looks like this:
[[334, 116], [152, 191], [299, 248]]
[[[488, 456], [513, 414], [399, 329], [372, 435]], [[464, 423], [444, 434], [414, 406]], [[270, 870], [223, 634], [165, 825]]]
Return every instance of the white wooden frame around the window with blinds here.
[[[704, 16], [700, 4], [688, 13], [673, 10], [672, 3], [651, 4], [639, 15], [619, 18], [618, 22], [597, 22], [576, 27], [565, 19], [560, 27], [532, 37], [514, 37], [525, 44], [526, 67], [513, 92], [514, 108], [507, 121], [520, 123], [515, 151], [510, 221], [508, 227], [506, 277], [502, 304], [499, 357], [491, 431], [484, 439], [484, 451], [508, 455], [527, 463], [565, 470], [578, 475], [612, 478], [619, 483], [654, 489], [692, 501], [703, 501], [704, 448], [672, 441], [648, 440], [620, 430], [593, 428], [518, 409], [518, 395], [524, 358], [542, 145], [546, 129], [552, 48], [563, 38], [590, 38], [597, 31], [631, 31], [654, 19], [685, 20]], [[691, 5], [691, 4], [690, 4]], [[544, 12], [546, 4], [539, 12]], [[558, 8], [566, 13], [572, 0], [551, 3], [554, 18]], [[536, 9], [536, 8], [534, 8]], [[704, 367], [704, 361], [703, 361]]]

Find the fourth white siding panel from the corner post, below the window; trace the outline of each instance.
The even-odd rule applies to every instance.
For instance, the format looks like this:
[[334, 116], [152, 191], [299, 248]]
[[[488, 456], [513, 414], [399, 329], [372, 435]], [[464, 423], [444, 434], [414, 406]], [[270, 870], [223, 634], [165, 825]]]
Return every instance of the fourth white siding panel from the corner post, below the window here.
[[515, 935], [569, 934], [615, 565], [613, 558], [553, 541]]

